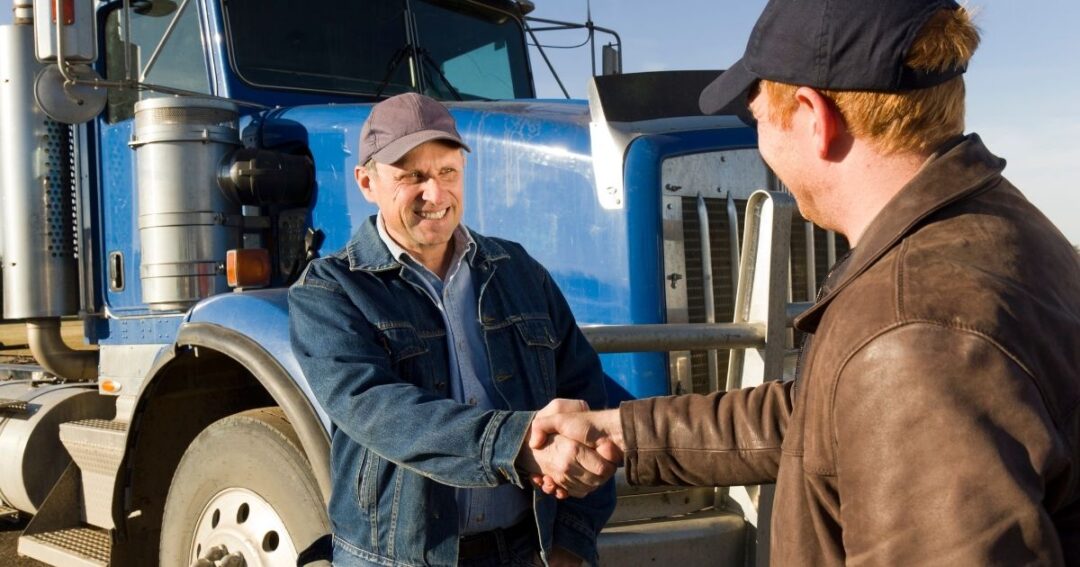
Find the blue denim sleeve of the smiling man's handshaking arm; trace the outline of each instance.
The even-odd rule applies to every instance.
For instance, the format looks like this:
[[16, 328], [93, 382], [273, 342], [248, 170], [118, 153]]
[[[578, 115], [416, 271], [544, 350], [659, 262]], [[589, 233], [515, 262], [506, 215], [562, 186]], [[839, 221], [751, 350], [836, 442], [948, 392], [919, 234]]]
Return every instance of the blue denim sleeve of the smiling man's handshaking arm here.
[[395, 365], [374, 326], [334, 289], [293, 288], [289, 306], [294, 354], [345, 434], [443, 484], [522, 484], [513, 465], [531, 414], [480, 409], [405, 381], [401, 361]]

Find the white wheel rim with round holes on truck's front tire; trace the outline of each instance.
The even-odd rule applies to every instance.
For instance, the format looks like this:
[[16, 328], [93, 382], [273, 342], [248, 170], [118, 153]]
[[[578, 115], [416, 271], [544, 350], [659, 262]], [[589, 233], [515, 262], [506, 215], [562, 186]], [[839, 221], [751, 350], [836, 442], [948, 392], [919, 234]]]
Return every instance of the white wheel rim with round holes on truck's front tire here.
[[296, 565], [296, 548], [278, 511], [245, 488], [227, 488], [211, 498], [199, 516], [191, 542], [192, 562], [225, 545], [248, 567]]

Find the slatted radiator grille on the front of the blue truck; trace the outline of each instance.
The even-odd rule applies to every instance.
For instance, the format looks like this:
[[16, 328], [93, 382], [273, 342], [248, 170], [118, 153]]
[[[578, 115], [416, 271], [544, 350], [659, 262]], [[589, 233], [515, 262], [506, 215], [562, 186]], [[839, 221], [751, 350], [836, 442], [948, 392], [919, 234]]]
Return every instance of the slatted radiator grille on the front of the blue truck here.
[[[748, 148], [669, 158], [661, 183], [667, 322], [708, 323], [710, 299], [713, 321], [732, 321], [738, 285], [733, 252], [739, 252], [743, 238], [747, 200], [756, 190], [780, 190], [782, 186], [757, 150]], [[733, 211], [729, 211], [729, 202]], [[712, 298], [706, 294], [706, 264], [702, 259], [702, 218], [707, 222]], [[812, 301], [828, 268], [847, 248], [842, 237], [794, 218], [788, 301]], [[801, 337], [793, 339], [793, 345], [801, 343]], [[713, 352], [716, 381], [712, 383], [724, 388], [729, 354], [727, 350]], [[670, 362], [673, 393], [713, 388], [710, 352], [675, 351], [670, 353]]]

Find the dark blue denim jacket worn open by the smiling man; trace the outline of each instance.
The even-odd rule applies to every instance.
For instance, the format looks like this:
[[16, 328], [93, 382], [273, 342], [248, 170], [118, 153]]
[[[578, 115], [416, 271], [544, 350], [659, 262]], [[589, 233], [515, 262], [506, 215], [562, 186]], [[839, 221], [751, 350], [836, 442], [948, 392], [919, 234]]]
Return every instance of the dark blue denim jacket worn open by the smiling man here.
[[[606, 404], [599, 359], [548, 271], [516, 243], [471, 233], [499, 409], [450, 400], [442, 315], [402, 278], [375, 217], [289, 291], [293, 350], [333, 422], [335, 564], [456, 565], [455, 487], [529, 485], [514, 461], [534, 410], [554, 397]], [[613, 483], [563, 501], [534, 490], [532, 502], [544, 557], [559, 545], [597, 563]]]

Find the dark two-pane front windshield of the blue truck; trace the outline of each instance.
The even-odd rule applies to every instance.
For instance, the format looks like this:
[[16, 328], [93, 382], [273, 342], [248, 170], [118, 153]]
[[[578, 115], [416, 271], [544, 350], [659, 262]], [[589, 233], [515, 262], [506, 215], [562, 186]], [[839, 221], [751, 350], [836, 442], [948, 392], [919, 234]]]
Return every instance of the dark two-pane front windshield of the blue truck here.
[[534, 96], [508, 14], [453, 0], [222, 0], [232, 64], [258, 86], [443, 100]]

